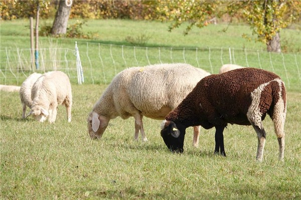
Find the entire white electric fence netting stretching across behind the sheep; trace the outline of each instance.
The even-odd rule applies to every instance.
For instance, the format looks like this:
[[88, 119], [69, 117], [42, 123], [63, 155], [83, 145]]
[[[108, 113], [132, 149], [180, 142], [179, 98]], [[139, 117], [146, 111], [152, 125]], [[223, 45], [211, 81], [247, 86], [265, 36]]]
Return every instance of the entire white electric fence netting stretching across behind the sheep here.
[[287, 90], [301, 90], [301, 54], [271, 53], [239, 48], [141, 47], [77, 42], [74, 49], [40, 49], [40, 68], [31, 63], [29, 49], [0, 50], [1, 84], [17, 83], [32, 72], [62, 70], [71, 82], [108, 84], [121, 70], [131, 66], [185, 62], [218, 73], [223, 64], [257, 67], [278, 74]]

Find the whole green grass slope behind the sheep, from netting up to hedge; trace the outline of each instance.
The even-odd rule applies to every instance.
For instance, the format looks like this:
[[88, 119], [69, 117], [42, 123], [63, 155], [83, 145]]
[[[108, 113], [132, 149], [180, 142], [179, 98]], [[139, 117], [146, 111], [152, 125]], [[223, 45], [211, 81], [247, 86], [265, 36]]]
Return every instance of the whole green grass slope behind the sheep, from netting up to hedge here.
[[[41, 24], [46, 22], [51, 21], [42, 20]], [[70, 23], [73, 22], [74, 20], [70, 20]], [[0, 69], [2, 70], [0, 84], [20, 85], [26, 75], [33, 72], [30, 64], [28, 20], [0, 23]], [[88, 84], [107, 84], [124, 68], [144, 66], [148, 63], [187, 62], [211, 73], [217, 73], [222, 64], [232, 62], [273, 71], [285, 81], [288, 90], [300, 91], [301, 54], [298, 53], [298, 49], [301, 41], [298, 39], [300, 34], [298, 29], [281, 31], [282, 49], [290, 52], [283, 53], [282, 57], [279, 53], [266, 52], [265, 45], [262, 43], [242, 38], [242, 33], [251, 35], [246, 25], [233, 24], [223, 32], [222, 29], [227, 27], [227, 24], [212, 24], [202, 29], [193, 28], [186, 36], [183, 35], [185, 26], [168, 32], [168, 25], [169, 23], [156, 21], [88, 20], [83, 30], [96, 32], [98, 37], [94, 39], [40, 37], [39, 47], [42, 50], [40, 50], [39, 70], [40, 72], [54, 70], [56, 66], [56, 69], [68, 73], [71, 81], [76, 83], [76, 62], [72, 50], [75, 41], [78, 41], [85, 83]], [[138, 44], [135, 45], [139, 45], [139, 42], [144, 42], [139, 41], [143, 35], [149, 38], [145, 40], [147, 49], [145, 46], [134, 48], [126, 39], [130, 36], [133, 40], [137, 40]], [[21, 52], [22, 48], [27, 49]], [[52, 52], [48, 48], [56, 48], [56, 50]], [[66, 49], [68, 49], [67, 53]], [[6, 50], [9, 50], [8, 54]], [[67, 67], [73, 69], [67, 70]]]

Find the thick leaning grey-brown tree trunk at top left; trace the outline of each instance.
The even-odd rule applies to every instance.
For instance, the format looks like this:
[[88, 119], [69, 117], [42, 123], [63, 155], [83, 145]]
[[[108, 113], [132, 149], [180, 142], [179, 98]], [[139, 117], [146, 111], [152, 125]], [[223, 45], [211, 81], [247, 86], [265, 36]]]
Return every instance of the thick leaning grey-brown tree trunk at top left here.
[[55, 19], [52, 25], [52, 34], [65, 34], [67, 31], [67, 23], [71, 5], [67, 6], [65, 0], [60, 0], [59, 8], [55, 14]]

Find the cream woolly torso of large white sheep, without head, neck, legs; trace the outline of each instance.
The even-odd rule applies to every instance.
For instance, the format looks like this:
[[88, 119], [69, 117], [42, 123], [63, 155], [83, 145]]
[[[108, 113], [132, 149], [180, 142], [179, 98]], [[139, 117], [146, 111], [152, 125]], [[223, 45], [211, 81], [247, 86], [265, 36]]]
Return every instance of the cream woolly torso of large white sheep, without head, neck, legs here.
[[164, 119], [209, 74], [186, 63], [131, 67], [113, 82], [114, 104], [121, 114], [132, 105], [146, 117]]

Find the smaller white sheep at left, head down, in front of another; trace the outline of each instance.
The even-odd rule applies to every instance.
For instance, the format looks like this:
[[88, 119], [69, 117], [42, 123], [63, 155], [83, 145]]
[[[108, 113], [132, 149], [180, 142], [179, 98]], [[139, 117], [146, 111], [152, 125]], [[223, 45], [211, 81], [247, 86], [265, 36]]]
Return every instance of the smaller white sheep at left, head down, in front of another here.
[[36, 120], [55, 122], [57, 107], [64, 104], [67, 109], [68, 122], [71, 121], [72, 92], [69, 77], [62, 71], [43, 74], [32, 87], [32, 108]]

